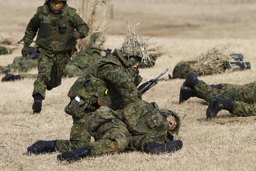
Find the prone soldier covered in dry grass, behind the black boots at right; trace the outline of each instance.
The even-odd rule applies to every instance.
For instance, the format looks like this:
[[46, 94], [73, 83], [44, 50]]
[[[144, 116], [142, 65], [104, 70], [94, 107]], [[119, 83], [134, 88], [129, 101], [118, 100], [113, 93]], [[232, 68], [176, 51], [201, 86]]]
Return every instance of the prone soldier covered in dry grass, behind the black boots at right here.
[[189, 71], [195, 72], [197, 76], [219, 74], [237, 70], [250, 69], [249, 62], [243, 62], [241, 53], [225, 53], [222, 49], [210, 49], [207, 53], [202, 53], [194, 60], [182, 61], [178, 63], [169, 75], [169, 79], [186, 78]]

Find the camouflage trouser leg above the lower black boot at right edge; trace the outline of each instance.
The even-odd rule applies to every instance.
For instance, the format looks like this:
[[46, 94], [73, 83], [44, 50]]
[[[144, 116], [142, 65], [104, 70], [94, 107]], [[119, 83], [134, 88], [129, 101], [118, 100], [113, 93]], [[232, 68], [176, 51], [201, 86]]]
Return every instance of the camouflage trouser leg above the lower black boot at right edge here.
[[232, 113], [241, 117], [256, 116], [256, 103], [248, 104], [241, 101], [234, 101]]

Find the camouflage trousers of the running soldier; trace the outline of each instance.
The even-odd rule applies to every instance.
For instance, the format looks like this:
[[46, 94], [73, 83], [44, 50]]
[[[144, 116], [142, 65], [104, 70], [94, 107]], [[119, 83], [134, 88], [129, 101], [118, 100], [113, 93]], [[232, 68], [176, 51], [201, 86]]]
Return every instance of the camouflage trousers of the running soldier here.
[[57, 53], [53, 57], [39, 52], [38, 76], [34, 82], [33, 96], [37, 93], [45, 98], [46, 86], [56, 88], [61, 84], [61, 78], [67, 63], [70, 61], [70, 53]]

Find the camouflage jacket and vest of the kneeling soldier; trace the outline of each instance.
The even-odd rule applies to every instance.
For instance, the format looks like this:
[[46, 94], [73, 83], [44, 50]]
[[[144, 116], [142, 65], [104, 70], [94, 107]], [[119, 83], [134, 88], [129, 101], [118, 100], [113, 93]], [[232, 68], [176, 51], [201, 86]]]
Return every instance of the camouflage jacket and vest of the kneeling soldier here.
[[131, 66], [120, 50], [115, 49], [113, 57], [92, 64], [83, 76], [74, 82], [68, 96], [71, 99], [75, 96], [84, 100], [90, 99], [92, 104], [97, 104], [100, 99], [114, 110], [122, 108], [127, 103], [141, 98], [141, 93], [134, 83], [140, 82], [135, 80], [138, 73], [135, 74]]

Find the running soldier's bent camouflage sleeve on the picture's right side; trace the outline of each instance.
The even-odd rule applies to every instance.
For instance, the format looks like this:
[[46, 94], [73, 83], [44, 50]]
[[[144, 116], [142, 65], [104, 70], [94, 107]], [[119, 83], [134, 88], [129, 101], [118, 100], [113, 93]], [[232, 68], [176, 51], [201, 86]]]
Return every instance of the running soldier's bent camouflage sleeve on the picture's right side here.
[[89, 26], [76, 13], [75, 13], [75, 15], [73, 17], [73, 23], [72, 24], [73, 24], [73, 27], [75, 28], [75, 30], [78, 31], [81, 34], [81, 36], [80, 36], [81, 39], [85, 38], [88, 35]]

